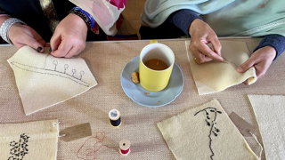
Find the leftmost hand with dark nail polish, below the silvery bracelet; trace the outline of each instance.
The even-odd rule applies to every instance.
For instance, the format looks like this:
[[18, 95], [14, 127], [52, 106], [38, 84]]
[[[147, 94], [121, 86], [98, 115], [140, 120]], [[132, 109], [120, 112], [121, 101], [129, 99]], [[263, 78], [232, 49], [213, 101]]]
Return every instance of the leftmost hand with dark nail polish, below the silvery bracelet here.
[[37, 52], [44, 52], [45, 40], [37, 31], [20, 23], [15, 23], [8, 31], [8, 37], [17, 48], [28, 45]]

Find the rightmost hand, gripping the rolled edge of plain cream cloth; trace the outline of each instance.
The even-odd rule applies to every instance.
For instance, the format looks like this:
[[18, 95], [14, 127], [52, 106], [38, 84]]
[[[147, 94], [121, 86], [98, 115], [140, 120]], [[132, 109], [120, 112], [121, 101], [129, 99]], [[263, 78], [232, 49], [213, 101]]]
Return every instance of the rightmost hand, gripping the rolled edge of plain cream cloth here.
[[[253, 52], [250, 58], [241, 64], [237, 69], [238, 72], [244, 73], [249, 68], [256, 68], [257, 79], [264, 76], [276, 56], [276, 51], [272, 46], [265, 46]], [[248, 84], [247, 81], [244, 84]]]

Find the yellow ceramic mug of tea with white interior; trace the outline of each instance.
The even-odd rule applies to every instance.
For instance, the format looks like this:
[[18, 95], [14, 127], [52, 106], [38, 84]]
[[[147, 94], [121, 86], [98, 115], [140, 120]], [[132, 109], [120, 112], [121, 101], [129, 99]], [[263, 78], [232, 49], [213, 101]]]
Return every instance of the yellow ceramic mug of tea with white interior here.
[[148, 44], [140, 54], [140, 84], [151, 92], [167, 87], [175, 64], [175, 54], [165, 44]]

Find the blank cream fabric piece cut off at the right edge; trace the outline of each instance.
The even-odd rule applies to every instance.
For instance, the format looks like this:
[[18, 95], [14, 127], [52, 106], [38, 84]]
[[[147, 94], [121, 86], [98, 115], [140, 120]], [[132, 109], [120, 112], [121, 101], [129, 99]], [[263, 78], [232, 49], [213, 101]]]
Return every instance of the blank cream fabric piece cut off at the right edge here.
[[264, 142], [266, 159], [285, 159], [285, 96], [248, 95]]

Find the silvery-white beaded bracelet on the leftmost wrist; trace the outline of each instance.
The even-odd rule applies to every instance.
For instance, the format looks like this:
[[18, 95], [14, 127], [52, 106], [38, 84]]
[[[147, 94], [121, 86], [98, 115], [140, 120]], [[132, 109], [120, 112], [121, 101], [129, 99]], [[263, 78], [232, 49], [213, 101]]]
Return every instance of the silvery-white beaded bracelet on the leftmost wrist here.
[[9, 36], [8, 36], [8, 31], [12, 27], [13, 24], [15, 23], [21, 23], [21, 24], [26, 24], [23, 21], [16, 19], [16, 18], [9, 18], [7, 20], [4, 20], [4, 22], [1, 25], [0, 28], [0, 36], [4, 41], [6, 41], [9, 44], [12, 44]]

